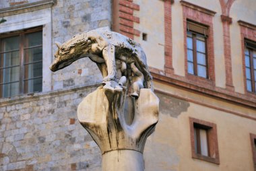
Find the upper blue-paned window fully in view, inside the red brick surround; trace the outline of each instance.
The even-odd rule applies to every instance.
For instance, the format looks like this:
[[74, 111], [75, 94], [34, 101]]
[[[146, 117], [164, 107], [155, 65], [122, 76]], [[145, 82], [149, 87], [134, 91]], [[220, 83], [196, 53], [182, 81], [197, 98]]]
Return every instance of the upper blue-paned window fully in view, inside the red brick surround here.
[[208, 29], [187, 21], [187, 72], [199, 77], [208, 77], [207, 46]]

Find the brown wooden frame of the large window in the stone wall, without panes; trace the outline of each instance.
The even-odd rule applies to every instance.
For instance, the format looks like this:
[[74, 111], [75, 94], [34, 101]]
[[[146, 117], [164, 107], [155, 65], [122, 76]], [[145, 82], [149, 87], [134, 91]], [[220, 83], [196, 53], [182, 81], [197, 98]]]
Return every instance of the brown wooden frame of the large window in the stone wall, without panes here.
[[[10, 38], [10, 37], [13, 37], [13, 36], [19, 36], [20, 37], [20, 44], [19, 44], [19, 50], [20, 50], [20, 53], [19, 53], [19, 61], [20, 61], [20, 73], [19, 73], [19, 94], [15, 95], [15, 96], [20, 96], [22, 94], [34, 94], [35, 92], [30, 92], [28, 93], [28, 86], [26, 86], [26, 83], [24, 83], [24, 81], [26, 81], [25, 79], [25, 74], [28, 74], [28, 73], [24, 73], [25, 71], [25, 54], [24, 54], [24, 51], [28, 48], [31, 48], [31, 47], [25, 47], [25, 34], [29, 34], [29, 33], [33, 33], [33, 32], [42, 32], [43, 34], [43, 29], [42, 29], [42, 26], [36, 26], [34, 28], [27, 28], [27, 29], [24, 29], [24, 30], [18, 30], [18, 31], [13, 31], [13, 32], [7, 32], [5, 34], [0, 34], [0, 49], [2, 47], [2, 39], [3, 38]], [[43, 35], [42, 35], [43, 36]], [[42, 44], [38, 45], [38, 46], [42, 46], [43, 48], [43, 39], [42, 39]], [[13, 50], [10, 50], [10, 51], [13, 51]], [[6, 53], [6, 52], [0, 52], [1, 54], [2, 53]], [[42, 53], [42, 59], [43, 59], [43, 53]], [[27, 65], [28, 63], [26, 63]], [[42, 60], [42, 64], [43, 64], [43, 60]], [[2, 66], [0, 66], [0, 69], [3, 68]], [[42, 70], [43, 70], [43, 67], [42, 67]], [[2, 74], [0, 73], [0, 80], [3, 79], [2, 77]], [[43, 74], [42, 76], [43, 77]], [[39, 77], [38, 77], [39, 78]], [[33, 78], [34, 79], [34, 78]], [[8, 97], [3, 97], [3, 85], [5, 83], [1, 83], [0, 84], [0, 98], [11, 98], [13, 96], [8, 96]], [[26, 88], [27, 87], [27, 88]], [[42, 84], [42, 87], [43, 87], [43, 84]], [[26, 88], [26, 90], [25, 90]], [[41, 90], [42, 92], [42, 90]]]

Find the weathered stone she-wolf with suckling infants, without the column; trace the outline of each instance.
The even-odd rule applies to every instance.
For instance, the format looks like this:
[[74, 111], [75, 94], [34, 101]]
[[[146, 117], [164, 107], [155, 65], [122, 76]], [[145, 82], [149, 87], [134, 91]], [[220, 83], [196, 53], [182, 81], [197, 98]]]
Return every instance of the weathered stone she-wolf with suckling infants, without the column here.
[[[104, 83], [113, 80], [123, 86], [125, 82], [132, 81], [131, 95], [135, 97], [139, 96], [140, 88], [152, 88], [146, 55], [131, 38], [117, 32], [91, 30], [77, 34], [63, 44], [56, 44], [58, 50], [50, 67], [52, 71], [63, 69], [77, 59], [89, 57], [98, 65]], [[119, 71], [116, 63], [121, 65]], [[121, 79], [121, 76], [125, 77]]]

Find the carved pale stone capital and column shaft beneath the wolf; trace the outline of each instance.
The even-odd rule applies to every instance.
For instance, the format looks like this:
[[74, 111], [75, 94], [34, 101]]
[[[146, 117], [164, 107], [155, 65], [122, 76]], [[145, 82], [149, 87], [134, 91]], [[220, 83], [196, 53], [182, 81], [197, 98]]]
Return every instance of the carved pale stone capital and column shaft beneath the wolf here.
[[143, 149], [158, 122], [159, 100], [150, 89], [139, 98], [102, 86], [79, 104], [78, 120], [102, 152], [102, 170], [144, 170]]

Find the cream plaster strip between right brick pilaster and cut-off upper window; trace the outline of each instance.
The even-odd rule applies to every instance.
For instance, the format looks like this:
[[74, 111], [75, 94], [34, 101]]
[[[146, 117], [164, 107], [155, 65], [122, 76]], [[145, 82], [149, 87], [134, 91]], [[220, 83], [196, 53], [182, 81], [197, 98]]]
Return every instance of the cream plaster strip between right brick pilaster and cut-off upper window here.
[[230, 25], [230, 43], [231, 43], [231, 57], [232, 57], [232, 79], [236, 92], [245, 93], [244, 78], [243, 78], [243, 60], [245, 60], [242, 52], [241, 44], [241, 30], [238, 25], [238, 20], [249, 22], [256, 25], [256, 3], [253, 0], [234, 1], [230, 9], [230, 18], [232, 24]]

